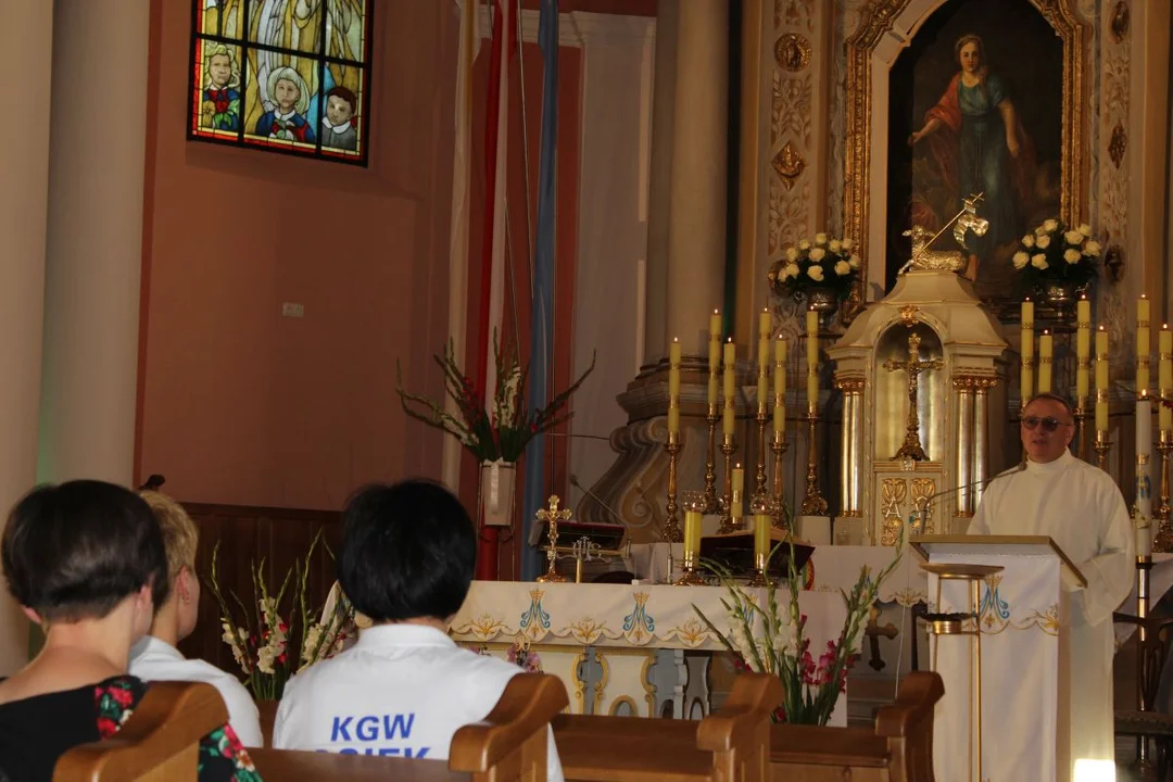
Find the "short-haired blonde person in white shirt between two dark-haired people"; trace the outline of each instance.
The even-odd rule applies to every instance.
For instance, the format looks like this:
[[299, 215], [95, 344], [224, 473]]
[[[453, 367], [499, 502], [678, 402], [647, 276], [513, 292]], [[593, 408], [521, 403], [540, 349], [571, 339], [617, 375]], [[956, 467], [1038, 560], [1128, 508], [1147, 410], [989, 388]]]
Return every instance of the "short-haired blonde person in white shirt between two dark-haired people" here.
[[199, 579], [196, 577], [196, 544], [199, 531], [183, 506], [157, 491], [140, 492], [163, 531], [171, 591], [155, 612], [150, 634], [130, 648], [130, 674], [145, 681], [205, 681], [228, 707], [228, 721], [245, 747], [264, 747], [260, 716], [249, 691], [236, 676], [204, 660], [189, 660], [176, 645], [196, 628], [199, 613]]

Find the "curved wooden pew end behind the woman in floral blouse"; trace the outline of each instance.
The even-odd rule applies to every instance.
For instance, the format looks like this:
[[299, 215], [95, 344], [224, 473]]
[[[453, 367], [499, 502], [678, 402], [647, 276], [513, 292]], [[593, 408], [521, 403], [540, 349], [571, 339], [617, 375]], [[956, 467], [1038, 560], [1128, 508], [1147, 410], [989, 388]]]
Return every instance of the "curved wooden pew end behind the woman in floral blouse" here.
[[199, 740], [225, 722], [228, 708], [211, 685], [161, 681], [117, 734], [62, 755], [53, 780], [195, 782]]

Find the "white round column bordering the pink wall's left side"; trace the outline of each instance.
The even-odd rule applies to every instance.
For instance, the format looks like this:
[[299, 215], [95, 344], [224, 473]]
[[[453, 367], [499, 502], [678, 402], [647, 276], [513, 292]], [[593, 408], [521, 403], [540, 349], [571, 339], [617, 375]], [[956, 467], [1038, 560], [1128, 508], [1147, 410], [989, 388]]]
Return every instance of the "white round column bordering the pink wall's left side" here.
[[[38, 477], [126, 484], [135, 446], [150, 4], [54, 5]], [[13, 73], [23, 79], [28, 70]], [[163, 97], [167, 107], [175, 96]], [[178, 124], [163, 132], [179, 132]]]

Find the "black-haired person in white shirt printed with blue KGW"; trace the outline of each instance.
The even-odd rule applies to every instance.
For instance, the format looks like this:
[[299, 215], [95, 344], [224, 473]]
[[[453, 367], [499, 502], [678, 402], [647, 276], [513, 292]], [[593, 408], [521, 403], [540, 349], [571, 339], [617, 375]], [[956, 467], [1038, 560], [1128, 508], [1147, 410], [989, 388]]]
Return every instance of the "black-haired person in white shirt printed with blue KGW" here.
[[[343, 514], [338, 582], [372, 624], [353, 647], [289, 681], [273, 746], [447, 760], [453, 734], [488, 716], [522, 672], [448, 637], [475, 564], [473, 521], [443, 487], [360, 490]], [[563, 778], [552, 733], [547, 774]]]

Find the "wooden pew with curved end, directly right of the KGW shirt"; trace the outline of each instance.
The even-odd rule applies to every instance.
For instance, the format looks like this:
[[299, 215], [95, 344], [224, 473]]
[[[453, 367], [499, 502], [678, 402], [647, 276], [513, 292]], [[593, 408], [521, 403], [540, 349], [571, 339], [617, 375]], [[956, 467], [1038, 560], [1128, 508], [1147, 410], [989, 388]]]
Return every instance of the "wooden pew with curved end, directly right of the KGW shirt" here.
[[562, 714], [554, 740], [567, 780], [762, 782], [769, 778], [769, 713], [781, 700], [778, 678], [747, 673], [725, 708], [699, 723]]

